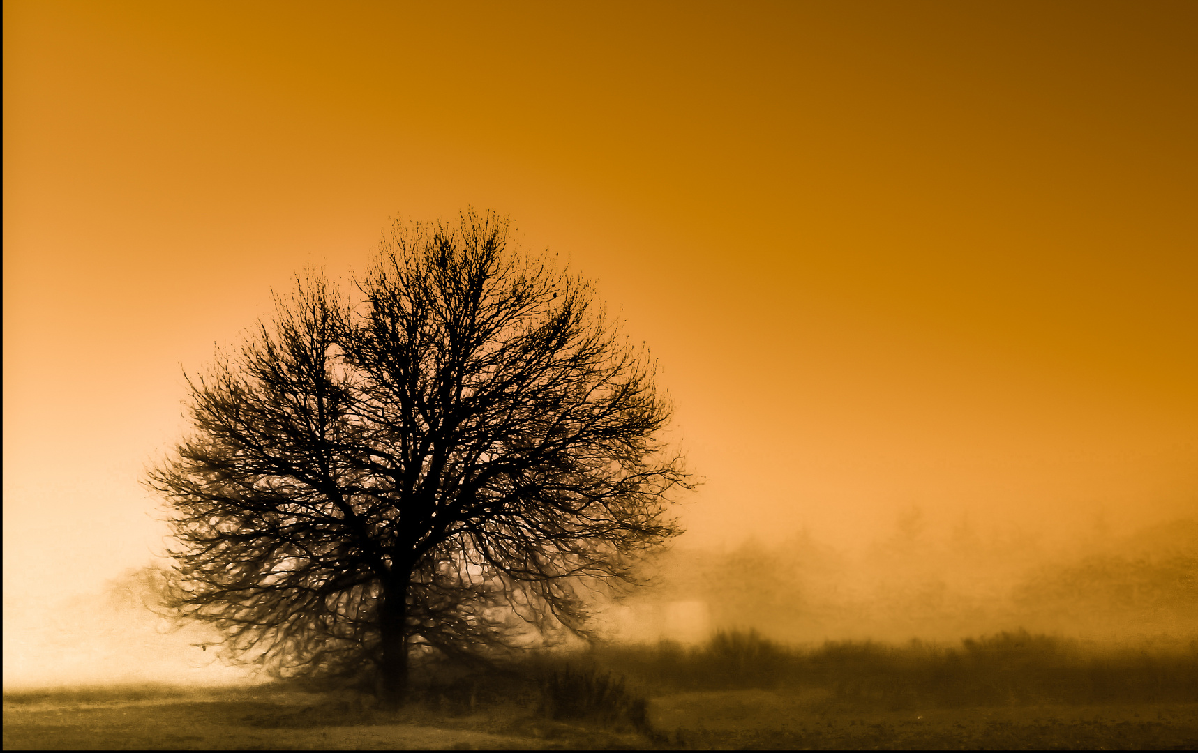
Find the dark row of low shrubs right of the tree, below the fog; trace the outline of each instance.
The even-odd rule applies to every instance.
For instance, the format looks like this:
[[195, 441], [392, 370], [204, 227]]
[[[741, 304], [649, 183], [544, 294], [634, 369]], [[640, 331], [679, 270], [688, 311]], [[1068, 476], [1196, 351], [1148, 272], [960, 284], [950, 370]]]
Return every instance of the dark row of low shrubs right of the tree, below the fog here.
[[891, 709], [1198, 702], [1196, 643], [1148, 651], [1024, 631], [966, 639], [960, 648], [846, 642], [805, 649], [731, 632], [690, 649], [609, 649], [604, 662], [658, 692], [818, 690], [829, 703]]

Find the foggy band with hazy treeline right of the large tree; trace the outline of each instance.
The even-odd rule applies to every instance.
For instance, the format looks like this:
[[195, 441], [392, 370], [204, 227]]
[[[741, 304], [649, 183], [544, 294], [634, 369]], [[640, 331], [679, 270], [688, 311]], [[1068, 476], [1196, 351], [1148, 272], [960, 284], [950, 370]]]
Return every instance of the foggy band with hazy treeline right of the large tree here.
[[767, 545], [662, 558], [658, 583], [612, 613], [623, 639], [703, 640], [755, 630], [775, 640], [956, 642], [1027, 630], [1100, 643], [1198, 637], [1198, 522], [1181, 518], [1048, 542], [967, 517], [933, 535], [919, 508], [859, 551], [809, 532]]

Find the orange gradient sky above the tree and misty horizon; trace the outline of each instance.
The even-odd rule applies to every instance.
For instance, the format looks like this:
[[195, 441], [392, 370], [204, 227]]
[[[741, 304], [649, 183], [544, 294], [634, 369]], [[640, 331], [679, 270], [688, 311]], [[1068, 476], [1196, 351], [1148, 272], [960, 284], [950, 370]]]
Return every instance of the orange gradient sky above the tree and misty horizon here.
[[696, 542], [1198, 514], [1193, 2], [38, 0], [4, 55], [6, 595], [146, 560], [181, 365], [467, 205], [660, 360]]

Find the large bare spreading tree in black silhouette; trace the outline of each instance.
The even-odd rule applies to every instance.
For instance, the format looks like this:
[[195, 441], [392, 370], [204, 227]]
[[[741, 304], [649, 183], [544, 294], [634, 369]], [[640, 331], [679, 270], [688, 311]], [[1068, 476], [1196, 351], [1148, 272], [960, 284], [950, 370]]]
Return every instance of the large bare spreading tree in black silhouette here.
[[357, 281], [297, 281], [190, 384], [194, 431], [147, 475], [173, 606], [279, 674], [587, 634], [685, 487], [646, 354], [589, 284], [507, 249], [508, 223], [397, 223]]

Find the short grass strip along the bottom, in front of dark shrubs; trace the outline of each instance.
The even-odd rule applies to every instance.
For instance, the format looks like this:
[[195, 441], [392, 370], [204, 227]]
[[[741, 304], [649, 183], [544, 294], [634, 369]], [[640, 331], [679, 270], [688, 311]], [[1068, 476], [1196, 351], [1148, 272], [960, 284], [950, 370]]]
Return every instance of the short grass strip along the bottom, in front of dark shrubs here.
[[515, 703], [437, 706], [387, 715], [361, 698], [272, 688], [6, 693], [4, 748], [1198, 748], [1198, 703], [869, 710], [818, 692], [734, 690], [652, 698], [640, 731]]

